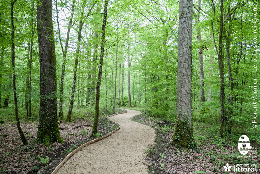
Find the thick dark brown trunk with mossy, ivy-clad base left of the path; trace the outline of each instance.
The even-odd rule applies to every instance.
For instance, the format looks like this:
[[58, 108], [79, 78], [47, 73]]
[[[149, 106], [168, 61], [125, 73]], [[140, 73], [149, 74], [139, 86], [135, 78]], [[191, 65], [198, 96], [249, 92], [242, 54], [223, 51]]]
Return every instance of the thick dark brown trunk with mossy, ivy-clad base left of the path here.
[[52, 21], [52, 1], [37, 2], [37, 30], [40, 53], [40, 116], [36, 142], [57, 141], [60, 136], [57, 117], [56, 55]]

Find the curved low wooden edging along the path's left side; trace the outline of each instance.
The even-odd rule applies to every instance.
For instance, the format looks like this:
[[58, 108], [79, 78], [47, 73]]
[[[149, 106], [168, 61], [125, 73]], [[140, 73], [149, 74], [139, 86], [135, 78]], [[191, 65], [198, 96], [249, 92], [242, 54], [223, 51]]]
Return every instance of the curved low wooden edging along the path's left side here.
[[[116, 109], [119, 109], [119, 108], [116, 108]], [[109, 116], [106, 117], [106, 119], [107, 119], [108, 121], [111, 121], [110, 119], [108, 119], [108, 117], [111, 117], [111, 116], [114, 116], [114, 115], [118, 115], [118, 114], [122, 114], [122, 113], [126, 113], [126, 112], [127, 112], [126, 109], [119, 109], [119, 110], [125, 110], [125, 112], [121, 112], [121, 113], [116, 113], [116, 114], [113, 114], [113, 115], [109, 115]], [[118, 124], [118, 123], [116, 123], [116, 122], [114, 122], [114, 121], [112, 121], [112, 122], [113, 122], [114, 124]], [[105, 138], [105, 137], [107, 137], [107, 136], [113, 134], [113, 133], [114, 133], [115, 131], [117, 131], [119, 128], [120, 128], [120, 124], [119, 124], [119, 127], [116, 128], [115, 130], [113, 130], [112, 132], [110, 132], [110, 133], [108, 133], [108, 134], [106, 134], [106, 135], [104, 135], [104, 136], [101, 136], [101, 137], [99, 137], [99, 138], [97, 138], [97, 139], [95, 139], [95, 140], [91, 140], [91, 141], [89, 141], [89, 142], [87, 142], [87, 143], [81, 145], [80, 147], [76, 148], [74, 151], [70, 152], [70, 153], [66, 156], [66, 158], [64, 158], [64, 159], [60, 162], [60, 164], [55, 168], [55, 170], [54, 170], [51, 174], [56, 174], [57, 171], [60, 169], [60, 167], [63, 165], [63, 163], [65, 163], [65, 161], [67, 161], [67, 160], [68, 160], [74, 153], [76, 153], [79, 149], [81, 149], [82, 147], [85, 147], [85, 146], [87, 146], [87, 145], [89, 145], [89, 144], [91, 144], [91, 143], [94, 143], [94, 142], [96, 142], [96, 141], [99, 141], [99, 140], [101, 140], [101, 139], [103, 139], [103, 138]]]

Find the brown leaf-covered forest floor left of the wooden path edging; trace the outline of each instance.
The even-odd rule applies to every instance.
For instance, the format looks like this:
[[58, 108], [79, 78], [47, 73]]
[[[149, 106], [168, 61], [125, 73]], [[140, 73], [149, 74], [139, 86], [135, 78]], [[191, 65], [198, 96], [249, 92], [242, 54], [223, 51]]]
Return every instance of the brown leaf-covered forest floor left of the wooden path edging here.
[[[116, 112], [123, 111], [116, 110]], [[81, 110], [81, 114], [83, 113]], [[51, 173], [68, 153], [76, 147], [118, 128], [119, 125], [106, 120], [106, 115], [110, 115], [110, 113], [103, 113], [103, 116], [100, 116], [98, 133], [94, 138], [90, 137], [93, 125], [93, 118], [91, 116], [75, 118], [73, 123], [60, 123], [60, 128], [73, 128], [86, 124], [90, 126], [82, 126], [76, 129], [60, 129], [60, 134], [65, 142], [63, 144], [52, 142], [49, 147], [46, 147], [44, 144], [35, 143], [38, 128], [36, 119], [34, 121], [22, 119], [21, 121], [22, 130], [28, 141], [28, 144], [24, 146], [22, 146], [16, 123], [8, 122], [8, 119], [5, 119], [5, 123], [1, 123], [0, 125], [0, 174]], [[1, 115], [1, 118], [3, 117]], [[47, 160], [47, 164], [43, 164], [43, 161], [39, 157], [44, 159], [48, 157], [49, 161]]]

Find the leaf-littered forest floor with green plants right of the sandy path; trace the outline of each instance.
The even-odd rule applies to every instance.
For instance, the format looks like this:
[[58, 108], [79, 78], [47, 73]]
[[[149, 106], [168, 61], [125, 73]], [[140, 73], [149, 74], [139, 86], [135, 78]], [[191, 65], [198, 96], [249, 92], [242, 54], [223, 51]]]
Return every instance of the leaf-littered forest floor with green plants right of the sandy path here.
[[[168, 123], [164, 124], [165, 121], [161, 119], [144, 114], [134, 116], [131, 119], [149, 125], [156, 130], [155, 144], [145, 151], [150, 173], [190, 174], [195, 171], [204, 171], [207, 174], [233, 173], [232, 171], [224, 171], [223, 166], [226, 163], [230, 165], [250, 163], [256, 164], [258, 169], [260, 167], [259, 158], [238, 159], [237, 142], [232, 142], [228, 137], [219, 138], [212, 129], [207, 131], [209, 128], [203, 122], [193, 122], [194, 138], [198, 150], [192, 151], [169, 145], [173, 137], [174, 122], [167, 125]], [[259, 149], [259, 144], [252, 143], [251, 146], [257, 146]], [[250, 172], [239, 173], [248, 174]], [[252, 173], [260, 173], [260, 171]]]

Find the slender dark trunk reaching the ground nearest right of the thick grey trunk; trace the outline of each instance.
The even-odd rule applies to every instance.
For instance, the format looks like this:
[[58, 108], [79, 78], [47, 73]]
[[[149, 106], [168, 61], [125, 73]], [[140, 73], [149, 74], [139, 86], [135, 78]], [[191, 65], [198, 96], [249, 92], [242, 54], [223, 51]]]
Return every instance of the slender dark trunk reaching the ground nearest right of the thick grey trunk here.
[[219, 77], [220, 77], [220, 131], [219, 136], [224, 136], [224, 103], [225, 103], [225, 87], [224, 87], [224, 64], [223, 64], [223, 52], [222, 52], [222, 33], [223, 33], [223, 0], [220, 0], [220, 29], [219, 29], [219, 54], [218, 54], [218, 66], [219, 66]]

